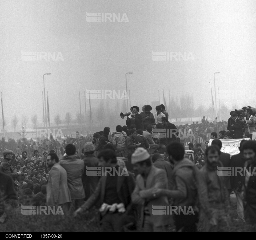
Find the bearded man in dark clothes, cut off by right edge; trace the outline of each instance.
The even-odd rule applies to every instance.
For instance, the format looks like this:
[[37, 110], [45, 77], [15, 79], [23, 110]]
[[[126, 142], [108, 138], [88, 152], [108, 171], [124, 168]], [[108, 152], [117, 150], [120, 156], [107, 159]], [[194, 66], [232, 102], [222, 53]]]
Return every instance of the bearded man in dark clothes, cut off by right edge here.
[[245, 221], [256, 224], [256, 143], [246, 141], [243, 144], [243, 157], [245, 158], [245, 177], [243, 184], [243, 200]]

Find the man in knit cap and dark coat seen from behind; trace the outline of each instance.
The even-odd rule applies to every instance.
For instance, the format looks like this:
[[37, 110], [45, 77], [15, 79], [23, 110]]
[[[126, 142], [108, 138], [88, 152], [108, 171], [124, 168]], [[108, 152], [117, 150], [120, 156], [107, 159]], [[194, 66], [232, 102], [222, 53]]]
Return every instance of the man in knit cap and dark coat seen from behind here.
[[94, 156], [95, 147], [92, 142], [85, 143], [83, 148], [83, 152], [85, 156], [83, 157], [83, 161], [85, 163], [85, 169], [83, 172], [82, 180], [83, 180], [83, 189], [85, 190], [85, 200], [87, 200], [95, 191], [99, 177], [98, 176], [87, 176], [87, 168], [97, 167], [98, 166], [98, 158]]

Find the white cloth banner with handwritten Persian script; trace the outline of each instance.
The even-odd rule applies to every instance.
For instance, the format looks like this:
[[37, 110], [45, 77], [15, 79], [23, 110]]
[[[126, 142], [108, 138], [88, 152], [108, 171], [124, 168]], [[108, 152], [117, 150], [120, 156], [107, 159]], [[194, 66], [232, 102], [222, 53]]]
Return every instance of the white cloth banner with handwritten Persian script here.
[[[250, 138], [239, 138], [239, 139], [219, 139], [222, 142], [222, 148], [221, 148], [221, 152], [223, 153], [229, 153], [230, 156], [238, 154], [239, 151], [239, 146], [242, 140], [247, 140], [249, 141]], [[211, 146], [211, 142], [213, 141], [213, 139], [209, 140], [209, 144], [208, 146]]]

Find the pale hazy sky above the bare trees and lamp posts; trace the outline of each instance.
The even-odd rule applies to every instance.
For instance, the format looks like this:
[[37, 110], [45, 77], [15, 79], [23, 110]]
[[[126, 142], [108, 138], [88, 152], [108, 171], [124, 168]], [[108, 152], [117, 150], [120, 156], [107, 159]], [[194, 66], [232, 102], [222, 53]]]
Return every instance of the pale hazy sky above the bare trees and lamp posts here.
[[[125, 13], [129, 22], [87, 22], [87, 13]], [[43, 74], [50, 116], [79, 112], [81, 91], [125, 90], [131, 104], [191, 93], [211, 105], [215, 74], [221, 105], [256, 104], [255, 1], [0, 1], [0, 89], [4, 114], [42, 122]], [[153, 52], [190, 54], [153, 61]], [[63, 60], [24, 61], [21, 52], [59, 52]], [[48, 56], [47, 56], [48, 57]], [[247, 96], [246, 96], [247, 95]], [[113, 105], [115, 101], [113, 101]], [[214, 100], [215, 101], [215, 100]], [[89, 101], [87, 100], [87, 103]], [[97, 107], [100, 100], [91, 100]], [[242, 107], [242, 106], [241, 106]], [[255, 107], [255, 106], [254, 106]]]

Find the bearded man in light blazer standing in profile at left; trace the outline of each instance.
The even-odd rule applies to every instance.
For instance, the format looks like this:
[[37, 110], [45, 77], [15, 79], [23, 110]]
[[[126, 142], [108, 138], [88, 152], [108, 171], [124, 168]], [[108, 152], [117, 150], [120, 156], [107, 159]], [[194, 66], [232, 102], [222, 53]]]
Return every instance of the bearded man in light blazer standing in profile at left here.
[[64, 214], [68, 214], [71, 196], [67, 186], [67, 172], [59, 165], [59, 158], [56, 153], [50, 153], [46, 158], [46, 165], [49, 171], [48, 182], [46, 185], [46, 204], [48, 206], [60, 205]]

